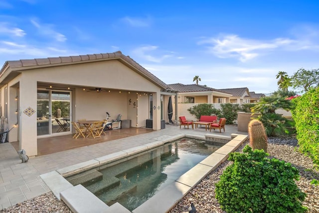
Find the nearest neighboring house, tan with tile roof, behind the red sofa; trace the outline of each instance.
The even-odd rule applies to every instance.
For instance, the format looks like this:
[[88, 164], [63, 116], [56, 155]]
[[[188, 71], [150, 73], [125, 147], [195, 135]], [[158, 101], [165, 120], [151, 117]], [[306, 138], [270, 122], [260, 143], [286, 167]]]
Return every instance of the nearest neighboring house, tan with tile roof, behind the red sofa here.
[[229, 92], [197, 84], [168, 84], [168, 88], [178, 92], [177, 103], [229, 103]]

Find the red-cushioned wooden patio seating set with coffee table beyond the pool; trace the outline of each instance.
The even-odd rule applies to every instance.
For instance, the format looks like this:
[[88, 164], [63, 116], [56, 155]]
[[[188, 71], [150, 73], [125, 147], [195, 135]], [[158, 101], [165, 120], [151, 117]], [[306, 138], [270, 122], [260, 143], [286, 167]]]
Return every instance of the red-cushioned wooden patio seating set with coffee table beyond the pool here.
[[196, 129], [198, 128], [198, 125], [205, 125], [205, 131], [209, 129], [211, 132], [211, 129], [219, 129], [219, 132], [221, 133], [221, 129], [225, 132], [225, 124], [226, 118], [220, 118], [217, 122], [217, 116], [202, 115], [197, 121], [187, 120], [185, 116], [179, 117], [179, 128], [181, 128], [181, 126], [184, 126], [184, 128], [187, 126], [187, 129], [189, 129], [189, 126], [191, 126], [191, 128], [194, 129], [195, 126]]

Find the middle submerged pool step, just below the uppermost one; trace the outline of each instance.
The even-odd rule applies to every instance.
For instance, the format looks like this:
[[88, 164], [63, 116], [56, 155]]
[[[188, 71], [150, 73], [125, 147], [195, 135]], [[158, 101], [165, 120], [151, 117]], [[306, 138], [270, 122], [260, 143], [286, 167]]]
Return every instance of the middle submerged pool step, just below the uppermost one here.
[[120, 185], [120, 179], [114, 176], [104, 176], [103, 179], [93, 185], [87, 186], [86, 188], [93, 194], [103, 193], [114, 187]]

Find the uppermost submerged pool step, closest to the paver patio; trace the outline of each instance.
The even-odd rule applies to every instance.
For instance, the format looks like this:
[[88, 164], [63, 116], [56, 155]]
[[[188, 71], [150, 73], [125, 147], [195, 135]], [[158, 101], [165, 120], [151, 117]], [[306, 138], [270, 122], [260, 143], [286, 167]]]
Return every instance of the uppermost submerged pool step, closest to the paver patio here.
[[73, 185], [78, 184], [83, 185], [84, 187], [89, 186], [93, 183], [101, 181], [103, 179], [103, 174], [97, 170], [90, 170], [88, 172], [81, 173], [74, 177], [67, 178], [67, 180]]

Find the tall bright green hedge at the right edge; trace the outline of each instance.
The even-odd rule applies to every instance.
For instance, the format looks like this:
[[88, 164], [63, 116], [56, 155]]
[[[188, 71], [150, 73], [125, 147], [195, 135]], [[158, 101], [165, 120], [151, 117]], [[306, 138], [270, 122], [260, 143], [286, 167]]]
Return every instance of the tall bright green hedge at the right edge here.
[[296, 104], [292, 116], [296, 122], [299, 150], [319, 164], [319, 87], [292, 101]]

